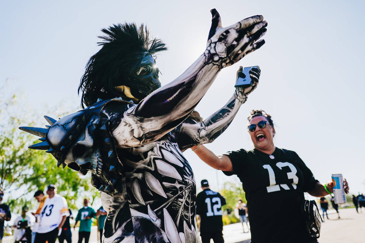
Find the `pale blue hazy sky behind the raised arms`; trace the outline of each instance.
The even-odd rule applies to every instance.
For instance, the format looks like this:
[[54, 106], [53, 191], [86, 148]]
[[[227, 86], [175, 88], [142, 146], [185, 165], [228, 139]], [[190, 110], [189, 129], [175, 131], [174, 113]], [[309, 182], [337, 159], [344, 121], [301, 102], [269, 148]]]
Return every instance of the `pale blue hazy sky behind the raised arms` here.
[[[240, 65], [260, 66], [257, 89], [207, 147], [217, 154], [253, 148], [246, 117], [263, 109], [273, 117], [276, 146], [295, 150], [321, 182], [343, 173], [351, 193], [365, 193], [362, 1], [3, 1], [0, 82], [8, 78], [21, 87], [26, 103], [36, 104], [32, 109], [66, 103], [73, 112], [85, 64], [99, 50], [100, 29], [135, 21], [169, 46], [157, 59], [166, 84], [203, 53], [211, 8], [223, 26], [261, 14], [268, 32], [260, 50], [220, 72], [197, 106], [206, 118], [233, 94]], [[190, 150], [184, 154], [197, 185], [208, 179], [217, 189], [215, 170]], [[220, 185], [233, 180], [222, 172], [218, 178]]]

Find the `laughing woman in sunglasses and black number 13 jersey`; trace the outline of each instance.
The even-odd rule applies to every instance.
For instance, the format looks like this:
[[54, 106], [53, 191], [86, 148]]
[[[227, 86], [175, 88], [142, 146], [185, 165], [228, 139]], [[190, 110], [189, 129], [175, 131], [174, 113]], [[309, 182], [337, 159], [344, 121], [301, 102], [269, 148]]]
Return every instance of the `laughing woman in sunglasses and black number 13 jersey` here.
[[[252, 243], [317, 242], [307, 232], [302, 216], [304, 192], [324, 197], [333, 192], [333, 183], [320, 184], [295, 152], [274, 145], [274, 124], [265, 111], [252, 110], [247, 119], [253, 150], [217, 156], [203, 145], [191, 149], [211, 167], [241, 180], [250, 212]], [[349, 193], [346, 179], [343, 184]]]

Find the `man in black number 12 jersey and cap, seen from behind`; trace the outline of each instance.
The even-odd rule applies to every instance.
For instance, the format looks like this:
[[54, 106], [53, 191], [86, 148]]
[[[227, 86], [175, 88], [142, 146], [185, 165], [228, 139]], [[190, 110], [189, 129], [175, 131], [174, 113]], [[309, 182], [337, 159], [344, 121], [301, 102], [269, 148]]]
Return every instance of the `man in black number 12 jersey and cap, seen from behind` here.
[[223, 243], [221, 207], [226, 205], [226, 199], [212, 191], [207, 180], [201, 180], [200, 184], [203, 191], [196, 196], [196, 214], [200, 219], [201, 242], [209, 243], [213, 239], [214, 243]]

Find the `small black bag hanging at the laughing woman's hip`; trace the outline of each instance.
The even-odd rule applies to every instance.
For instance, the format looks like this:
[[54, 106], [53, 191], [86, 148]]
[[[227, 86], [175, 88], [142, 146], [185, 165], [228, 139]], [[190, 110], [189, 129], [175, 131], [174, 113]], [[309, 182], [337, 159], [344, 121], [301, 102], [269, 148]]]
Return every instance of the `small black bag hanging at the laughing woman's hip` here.
[[307, 232], [311, 238], [319, 238], [320, 225], [323, 222], [317, 204], [314, 200], [303, 200], [301, 212], [306, 222]]

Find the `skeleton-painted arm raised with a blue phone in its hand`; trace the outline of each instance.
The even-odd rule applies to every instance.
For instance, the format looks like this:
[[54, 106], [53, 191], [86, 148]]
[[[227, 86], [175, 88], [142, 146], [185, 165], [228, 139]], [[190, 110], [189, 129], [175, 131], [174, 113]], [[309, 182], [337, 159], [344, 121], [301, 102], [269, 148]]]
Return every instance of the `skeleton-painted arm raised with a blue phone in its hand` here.
[[[242, 73], [242, 69], [242, 66], [240, 66], [237, 71], [236, 80]], [[246, 102], [247, 95], [257, 87], [260, 72], [259, 68], [253, 68], [250, 71], [250, 78], [252, 80], [251, 86], [246, 87], [245, 89], [237, 87], [226, 105], [203, 122], [184, 121], [177, 132], [177, 143], [180, 146], [181, 151], [184, 151], [191, 146], [213, 142], [215, 138], [222, 134], [231, 124], [239, 107]]]

